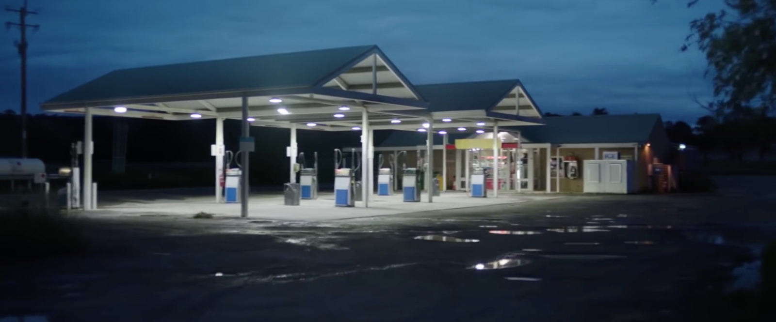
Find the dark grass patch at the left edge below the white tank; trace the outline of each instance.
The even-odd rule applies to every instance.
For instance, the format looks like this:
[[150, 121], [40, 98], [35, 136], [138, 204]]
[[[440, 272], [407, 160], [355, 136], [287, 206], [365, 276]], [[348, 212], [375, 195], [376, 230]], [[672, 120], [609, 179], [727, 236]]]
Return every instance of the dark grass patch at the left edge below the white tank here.
[[0, 257], [33, 259], [88, 248], [78, 222], [53, 209], [0, 209]]

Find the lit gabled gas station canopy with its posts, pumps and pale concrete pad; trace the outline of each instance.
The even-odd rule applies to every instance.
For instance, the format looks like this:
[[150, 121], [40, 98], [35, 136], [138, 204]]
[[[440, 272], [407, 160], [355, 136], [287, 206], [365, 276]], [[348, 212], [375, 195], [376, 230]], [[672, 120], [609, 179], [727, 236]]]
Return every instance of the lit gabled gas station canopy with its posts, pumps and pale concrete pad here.
[[[418, 87], [425, 89], [419, 91]], [[92, 184], [93, 115], [169, 121], [215, 119], [217, 126], [210, 151], [215, 159], [214, 198], [152, 204], [127, 200], [100, 210], [131, 212], [142, 207], [144, 212], [206, 211], [234, 215], [240, 204], [239, 214], [243, 218], [348, 218], [542, 198], [499, 196], [500, 187], [504, 186], [486, 187], [486, 172], [494, 178], [501, 177], [501, 166], [497, 165], [500, 158], [490, 160], [495, 166], [466, 166], [469, 180], [461, 180], [463, 174], [456, 170], [459, 187], [464, 181], [471, 182], [471, 189], [468, 184], [466, 188], [468, 197], [460, 192], [445, 193], [445, 166], [438, 186], [425, 184], [437, 180], [428, 165], [438, 163], [434, 152], [438, 140], [442, 139], [445, 147], [457, 148], [459, 159], [462, 153], [469, 159], [471, 153], [479, 153], [473, 151], [486, 149], [490, 149], [491, 156], [501, 156], [504, 149], [514, 150], [510, 145], [518, 142], [504, 142], [501, 135], [492, 135], [500, 133], [500, 127], [544, 124], [541, 111], [520, 81], [483, 82], [476, 89], [479, 94], [465, 101], [456, 95], [449, 95], [456, 99], [445, 101], [445, 91], [449, 89], [414, 86], [377, 46], [355, 46], [114, 70], [44, 102], [41, 108], [84, 115], [83, 142], [92, 143], [82, 144], [83, 180], [71, 185], [81, 187], [82, 191], [68, 191], [81, 195], [76, 200], [96, 199]], [[495, 103], [494, 97], [499, 98]], [[241, 121], [238, 151], [225, 150], [223, 122], [227, 118]], [[289, 182], [282, 197], [248, 194], [251, 152], [253, 157], [261, 157], [255, 150], [255, 139], [249, 135], [250, 126], [289, 129]], [[334, 169], [319, 169], [317, 152], [308, 156], [300, 153], [296, 142], [298, 130], [359, 131], [361, 146], [336, 150]], [[407, 152], [381, 153], [376, 163], [373, 133], [384, 130], [425, 137], [425, 146], [414, 151], [413, 164], [407, 166], [405, 162], [399, 166], [400, 158], [410, 156]], [[453, 134], [485, 132], [490, 132], [491, 138], [459, 139], [452, 145], [448, 141]], [[442, 153], [445, 165], [447, 158], [447, 153]], [[334, 171], [333, 194], [319, 191], [317, 176], [323, 171]], [[73, 176], [73, 180], [80, 178]], [[488, 188], [493, 190], [492, 195], [483, 198]], [[421, 190], [426, 190], [422, 198]], [[94, 210], [97, 202], [75, 202], [73, 206]], [[296, 206], [293, 215], [288, 214], [287, 206]]]

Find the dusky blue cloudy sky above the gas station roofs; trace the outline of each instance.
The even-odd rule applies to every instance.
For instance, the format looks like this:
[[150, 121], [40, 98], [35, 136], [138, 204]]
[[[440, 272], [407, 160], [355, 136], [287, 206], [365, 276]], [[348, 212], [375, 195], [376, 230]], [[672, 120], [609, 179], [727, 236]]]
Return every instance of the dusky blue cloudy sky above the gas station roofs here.
[[[415, 84], [520, 78], [544, 111], [694, 122], [705, 61], [679, 48], [702, 0], [29, 0], [29, 107], [110, 70], [377, 44]], [[18, 5], [22, 0], [5, 0]], [[16, 17], [2, 12], [2, 20]], [[0, 32], [0, 110], [18, 109]]]

